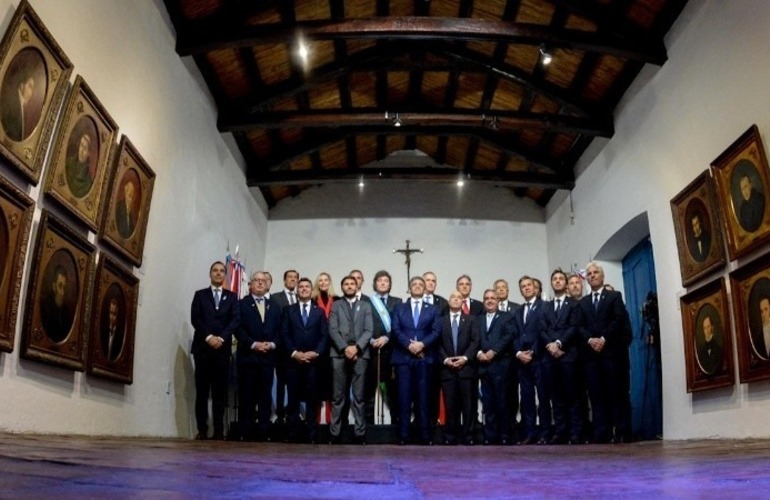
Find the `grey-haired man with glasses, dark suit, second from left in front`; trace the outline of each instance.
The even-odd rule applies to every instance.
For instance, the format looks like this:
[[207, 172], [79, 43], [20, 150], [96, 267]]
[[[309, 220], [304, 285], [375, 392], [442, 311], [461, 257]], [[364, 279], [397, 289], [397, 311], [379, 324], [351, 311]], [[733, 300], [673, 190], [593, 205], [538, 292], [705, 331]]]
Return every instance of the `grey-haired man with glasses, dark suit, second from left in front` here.
[[265, 298], [267, 283], [264, 271], [255, 272], [249, 281], [249, 295], [238, 303], [240, 325], [235, 331], [238, 339], [238, 422], [241, 437], [245, 440], [270, 439], [273, 371], [281, 312], [274, 302]]

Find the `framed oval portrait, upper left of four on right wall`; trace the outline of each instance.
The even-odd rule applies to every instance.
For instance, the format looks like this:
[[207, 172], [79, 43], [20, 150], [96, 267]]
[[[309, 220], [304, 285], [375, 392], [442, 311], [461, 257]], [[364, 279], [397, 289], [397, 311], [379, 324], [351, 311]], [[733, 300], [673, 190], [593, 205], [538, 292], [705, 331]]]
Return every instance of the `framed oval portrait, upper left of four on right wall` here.
[[671, 200], [682, 285], [725, 264], [722, 223], [708, 170]]

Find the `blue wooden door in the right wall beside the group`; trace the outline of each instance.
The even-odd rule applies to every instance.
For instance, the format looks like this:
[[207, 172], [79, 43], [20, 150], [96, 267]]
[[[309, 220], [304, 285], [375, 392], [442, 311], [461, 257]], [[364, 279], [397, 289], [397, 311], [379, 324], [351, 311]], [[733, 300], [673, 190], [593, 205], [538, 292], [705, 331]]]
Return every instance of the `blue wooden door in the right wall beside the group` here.
[[[637, 439], [654, 439], [663, 434], [663, 404], [660, 370], [660, 338], [657, 331], [657, 287], [652, 243], [647, 237], [623, 258], [626, 308], [631, 318], [633, 341], [631, 361], [631, 430]], [[650, 303], [654, 294], [654, 320]]]

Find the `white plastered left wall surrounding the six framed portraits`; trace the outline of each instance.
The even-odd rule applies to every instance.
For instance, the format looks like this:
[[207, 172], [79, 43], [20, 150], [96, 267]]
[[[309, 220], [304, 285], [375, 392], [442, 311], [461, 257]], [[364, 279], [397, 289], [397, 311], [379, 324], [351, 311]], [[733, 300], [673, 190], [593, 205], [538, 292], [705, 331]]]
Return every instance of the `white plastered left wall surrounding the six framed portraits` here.
[[[0, 0], [5, 31], [18, 1]], [[32, 7], [156, 174], [137, 312], [134, 383], [0, 355], [0, 430], [90, 435], [189, 436], [194, 400], [190, 302], [208, 284], [227, 242], [261, 266], [266, 209], [245, 186], [240, 158], [216, 130], [197, 69], [174, 51], [160, 1], [32, 0]], [[0, 174], [18, 176], [0, 163]], [[43, 173], [45, 175], [45, 172]], [[25, 186], [22, 182], [17, 182]], [[40, 187], [25, 191], [46, 205]], [[94, 242], [93, 234], [89, 239]], [[30, 262], [22, 282], [22, 310]], [[194, 425], [192, 426], [194, 428]]]

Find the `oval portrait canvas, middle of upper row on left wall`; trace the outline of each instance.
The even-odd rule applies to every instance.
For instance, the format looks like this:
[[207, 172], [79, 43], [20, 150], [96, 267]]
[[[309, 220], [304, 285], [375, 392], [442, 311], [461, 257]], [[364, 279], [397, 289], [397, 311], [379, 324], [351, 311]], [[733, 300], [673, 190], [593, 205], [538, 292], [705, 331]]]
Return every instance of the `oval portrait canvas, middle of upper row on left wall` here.
[[96, 126], [90, 118], [83, 117], [72, 130], [65, 161], [67, 185], [76, 198], [83, 198], [91, 190], [98, 157]]

